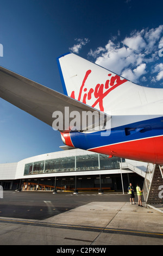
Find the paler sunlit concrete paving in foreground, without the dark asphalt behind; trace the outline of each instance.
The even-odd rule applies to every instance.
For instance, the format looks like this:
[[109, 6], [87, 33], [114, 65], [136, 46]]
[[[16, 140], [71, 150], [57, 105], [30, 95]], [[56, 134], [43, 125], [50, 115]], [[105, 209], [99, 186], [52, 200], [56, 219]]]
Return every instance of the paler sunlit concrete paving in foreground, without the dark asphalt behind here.
[[145, 204], [91, 202], [43, 221], [1, 217], [0, 245], [55, 245], [56, 252], [78, 245], [82, 253], [98, 246], [163, 245], [163, 214]]

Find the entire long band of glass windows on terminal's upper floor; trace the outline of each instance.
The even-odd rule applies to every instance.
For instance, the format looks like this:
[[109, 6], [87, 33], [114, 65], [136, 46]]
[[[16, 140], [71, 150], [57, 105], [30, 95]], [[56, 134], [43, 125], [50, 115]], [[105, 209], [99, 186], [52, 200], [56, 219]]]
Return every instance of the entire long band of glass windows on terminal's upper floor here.
[[[120, 168], [120, 162], [125, 161], [120, 157], [108, 158], [103, 154], [79, 155], [71, 157], [61, 157], [58, 159], [37, 161], [25, 164], [24, 175], [73, 172], [75, 170], [98, 170]], [[75, 168], [76, 167], [76, 168]]]

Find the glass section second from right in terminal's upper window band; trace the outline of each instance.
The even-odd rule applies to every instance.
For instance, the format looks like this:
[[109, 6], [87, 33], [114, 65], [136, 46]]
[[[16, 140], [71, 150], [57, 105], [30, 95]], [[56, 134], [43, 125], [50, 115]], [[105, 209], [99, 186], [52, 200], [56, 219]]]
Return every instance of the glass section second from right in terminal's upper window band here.
[[98, 154], [80, 155], [77, 156], [77, 171], [78, 170], [97, 170], [98, 168]]

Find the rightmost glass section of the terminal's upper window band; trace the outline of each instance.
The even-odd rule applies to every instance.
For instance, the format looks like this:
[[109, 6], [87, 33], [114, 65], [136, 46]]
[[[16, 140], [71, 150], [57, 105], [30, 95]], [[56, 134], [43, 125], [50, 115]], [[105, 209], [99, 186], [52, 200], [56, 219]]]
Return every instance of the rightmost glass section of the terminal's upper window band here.
[[111, 157], [99, 154], [100, 169], [115, 169], [120, 168], [120, 157]]

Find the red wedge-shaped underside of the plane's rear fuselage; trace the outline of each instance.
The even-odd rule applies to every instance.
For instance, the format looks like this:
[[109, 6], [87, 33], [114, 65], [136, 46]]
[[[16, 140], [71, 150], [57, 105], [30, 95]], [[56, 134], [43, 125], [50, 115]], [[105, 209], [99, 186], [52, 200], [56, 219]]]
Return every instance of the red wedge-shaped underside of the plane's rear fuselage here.
[[125, 159], [163, 164], [163, 136], [140, 139], [90, 149], [96, 153], [118, 156]]

